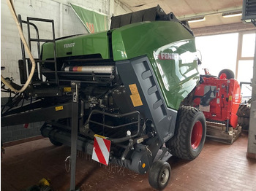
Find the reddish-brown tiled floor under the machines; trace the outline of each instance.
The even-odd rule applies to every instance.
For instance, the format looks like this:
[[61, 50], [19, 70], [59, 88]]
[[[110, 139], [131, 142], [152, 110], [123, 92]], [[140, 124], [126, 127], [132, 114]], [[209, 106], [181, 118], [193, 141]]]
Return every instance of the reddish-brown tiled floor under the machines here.
[[[246, 158], [247, 135], [232, 145], [206, 140], [203, 151], [187, 162], [170, 157], [172, 176], [165, 190], [256, 190], [256, 160]], [[69, 190], [64, 160], [69, 147], [39, 139], [5, 148], [1, 160], [1, 190], [24, 190], [50, 179], [54, 191]], [[153, 190], [148, 174], [139, 175], [115, 165], [99, 165], [79, 153], [76, 185], [80, 190]]]

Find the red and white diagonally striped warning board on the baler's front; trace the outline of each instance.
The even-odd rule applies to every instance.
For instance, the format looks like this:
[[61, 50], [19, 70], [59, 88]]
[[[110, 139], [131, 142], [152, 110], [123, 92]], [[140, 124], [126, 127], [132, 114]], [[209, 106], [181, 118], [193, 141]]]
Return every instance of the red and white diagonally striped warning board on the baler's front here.
[[92, 151], [92, 159], [108, 165], [111, 141], [104, 139], [102, 136], [94, 136], [94, 149]]

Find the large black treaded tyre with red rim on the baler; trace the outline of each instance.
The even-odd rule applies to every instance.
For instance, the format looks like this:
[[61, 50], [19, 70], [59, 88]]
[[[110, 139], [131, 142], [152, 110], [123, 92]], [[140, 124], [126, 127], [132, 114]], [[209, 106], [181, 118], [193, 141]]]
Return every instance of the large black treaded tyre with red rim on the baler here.
[[193, 160], [202, 151], [205, 140], [206, 117], [203, 112], [192, 106], [181, 106], [174, 136], [165, 143], [170, 153], [181, 159]]

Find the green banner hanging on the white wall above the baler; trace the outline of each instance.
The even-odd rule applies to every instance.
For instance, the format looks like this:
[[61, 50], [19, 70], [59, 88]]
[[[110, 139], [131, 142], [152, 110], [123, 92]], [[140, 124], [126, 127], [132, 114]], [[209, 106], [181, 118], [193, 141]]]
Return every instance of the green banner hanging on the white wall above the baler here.
[[86, 27], [89, 33], [96, 33], [99, 31], [108, 30], [108, 18], [107, 15], [99, 14], [97, 12], [84, 9], [75, 4], [69, 3], [75, 14], [78, 15], [83, 25]]

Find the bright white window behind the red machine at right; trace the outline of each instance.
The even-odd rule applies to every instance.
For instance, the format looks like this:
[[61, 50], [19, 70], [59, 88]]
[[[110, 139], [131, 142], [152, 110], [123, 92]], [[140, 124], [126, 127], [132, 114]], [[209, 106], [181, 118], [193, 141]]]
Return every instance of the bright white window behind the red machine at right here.
[[238, 82], [251, 82], [255, 41], [255, 31], [196, 37], [195, 44], [202, 55], [200, 74], [208, 69], [211, 75], [218, 76], [222, 69], [230, 69]]

